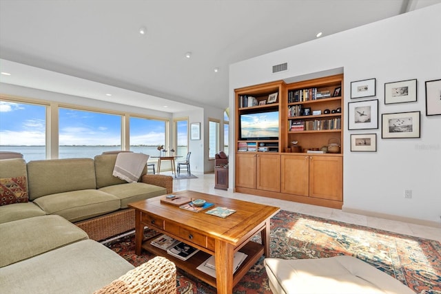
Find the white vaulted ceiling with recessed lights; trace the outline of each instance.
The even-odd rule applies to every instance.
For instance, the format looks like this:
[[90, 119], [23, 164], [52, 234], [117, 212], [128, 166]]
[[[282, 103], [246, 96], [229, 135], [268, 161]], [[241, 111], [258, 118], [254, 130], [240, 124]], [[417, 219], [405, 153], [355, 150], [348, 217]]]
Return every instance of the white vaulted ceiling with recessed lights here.
[[163, 112], [225, 109], [230, 64], [435, 3], [0, 0], [0, 70], [11, 74], [0, 82]]

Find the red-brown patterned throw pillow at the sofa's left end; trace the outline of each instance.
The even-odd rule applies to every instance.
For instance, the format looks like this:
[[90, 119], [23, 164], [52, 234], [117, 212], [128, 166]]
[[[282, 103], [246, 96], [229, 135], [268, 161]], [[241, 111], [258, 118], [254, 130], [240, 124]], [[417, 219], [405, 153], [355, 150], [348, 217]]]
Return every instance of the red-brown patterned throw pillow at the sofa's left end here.
[[0, 178], [0, 206], [28, 201], [25, 176]]

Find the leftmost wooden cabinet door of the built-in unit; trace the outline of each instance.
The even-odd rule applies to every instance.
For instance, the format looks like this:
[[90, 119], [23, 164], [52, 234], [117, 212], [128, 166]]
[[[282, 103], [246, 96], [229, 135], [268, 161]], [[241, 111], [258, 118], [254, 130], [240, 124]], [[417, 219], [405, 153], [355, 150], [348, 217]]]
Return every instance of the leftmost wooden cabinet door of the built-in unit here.
[[256, 189], [256, 154], [236, 155], [236, 186]]

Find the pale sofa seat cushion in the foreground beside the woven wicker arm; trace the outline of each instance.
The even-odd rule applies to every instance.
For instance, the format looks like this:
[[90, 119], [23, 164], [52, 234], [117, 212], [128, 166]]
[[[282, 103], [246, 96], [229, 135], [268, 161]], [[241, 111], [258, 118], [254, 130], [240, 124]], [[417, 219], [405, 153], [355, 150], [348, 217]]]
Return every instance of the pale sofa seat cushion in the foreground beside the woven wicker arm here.
[[1, 292], [93, 293], [132, 269], [103, 244], [83, 240], [1, 268]]

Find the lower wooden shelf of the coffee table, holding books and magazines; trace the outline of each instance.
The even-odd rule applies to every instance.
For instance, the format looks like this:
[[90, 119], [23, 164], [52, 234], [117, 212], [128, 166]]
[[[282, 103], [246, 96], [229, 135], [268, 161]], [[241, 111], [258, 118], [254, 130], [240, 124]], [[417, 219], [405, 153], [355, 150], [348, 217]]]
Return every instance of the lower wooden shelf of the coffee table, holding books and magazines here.
[[[170, 255], [167, 253], [167, 251], [163, 249], [159, 249], [158, 247], [152, 246], [150, 242], [155, 237], [152, 237], [150, 239], [147, 239], [143, 241], [142, 248], [146, 251], [149, 251], [150, 253], [153, 253], [154, 255], [159, 255], [167, 258], [168, 260], [171, 260], [176, 264], [176, 266], [183, 271], [186, 271], [190, 275], [194, 275], [194, 277], [197, 277], [199, 280], [202, 280], [206, 282], [207, 284], [214, 286], [216, 288], [216, 279], [212, 277], [211, 275], [207, 275], [206, 273], [203, 273], [202, 271], [199, 271], [196, 269], [200, 264], [205, 262], [207, 258], [210, 257], [209, 253], [206, 253], [204, 251], [198, 251], [195, 255], [193, 255], [188, 260], [180, 260], [178, 258], [175, 258], [173, 255]], [[254, 264], [259, 260], [260, 256], [263, 255], [264, 248], [262, 244], [249, 241], [245, 246], [240, 248], [240, 252], [243, 252], [247, 254], [247, 258], [243, 261], [243, 263], [240, 265], [239, 269], [237, 269], [236, 273], [233, 275], [233, 286], [235, 286], [242, 277], [251, 269]]]

